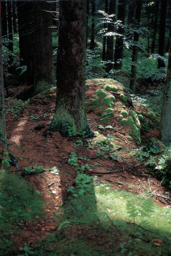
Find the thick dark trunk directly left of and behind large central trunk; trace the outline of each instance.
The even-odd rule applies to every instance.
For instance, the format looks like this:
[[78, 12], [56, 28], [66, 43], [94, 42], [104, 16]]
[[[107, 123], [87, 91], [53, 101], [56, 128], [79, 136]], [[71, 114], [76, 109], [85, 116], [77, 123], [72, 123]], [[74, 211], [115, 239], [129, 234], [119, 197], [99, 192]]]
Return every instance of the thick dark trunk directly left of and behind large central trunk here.
[[54, 82], [50, 3], [34, 1], [34, 94], [50, 88]]

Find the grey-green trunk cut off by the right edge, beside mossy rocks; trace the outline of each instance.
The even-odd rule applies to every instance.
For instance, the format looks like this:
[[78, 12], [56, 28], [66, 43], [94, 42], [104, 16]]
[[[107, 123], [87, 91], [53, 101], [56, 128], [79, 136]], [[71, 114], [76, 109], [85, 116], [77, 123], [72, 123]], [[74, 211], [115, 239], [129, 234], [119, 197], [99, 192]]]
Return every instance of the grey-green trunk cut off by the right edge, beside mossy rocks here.
[[167, 77], [163, 93], [163, 105], [160, 120], [160, 138], [165, 145], [171, 142], [171, 40], [168, 54]]

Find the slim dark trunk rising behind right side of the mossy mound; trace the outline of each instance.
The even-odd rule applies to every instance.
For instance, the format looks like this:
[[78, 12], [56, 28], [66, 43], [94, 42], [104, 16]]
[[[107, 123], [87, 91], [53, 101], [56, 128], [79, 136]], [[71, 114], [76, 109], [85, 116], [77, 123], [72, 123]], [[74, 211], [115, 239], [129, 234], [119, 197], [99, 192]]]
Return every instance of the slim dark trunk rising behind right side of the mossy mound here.
[[[141, 16], [142, 0], [136, 1], [136, 10], [135, 10], [135, 25], [137, 29], [140, 26], [140, 16]], [[136, 76], [137, 76], [137, 60], [138, 60], [138, 41], [139, 33], [133, 33], [133, 53], [132, 53], [132, 65], [131, 65], [131, 79], [130, 79], [130, 89], [135, 93], [136, 89]], [[135, 64], [134, 64], [135, 63]]]

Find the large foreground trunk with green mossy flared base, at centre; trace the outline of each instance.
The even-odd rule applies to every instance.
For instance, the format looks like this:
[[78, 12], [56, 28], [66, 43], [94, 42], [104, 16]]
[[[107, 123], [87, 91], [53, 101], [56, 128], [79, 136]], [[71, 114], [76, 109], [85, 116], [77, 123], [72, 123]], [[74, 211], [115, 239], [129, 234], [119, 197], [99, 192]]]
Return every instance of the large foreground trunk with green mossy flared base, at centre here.
[[86, 1], [61, 0], [56, 112], [49, 129], [93, 136], [85, 115]]

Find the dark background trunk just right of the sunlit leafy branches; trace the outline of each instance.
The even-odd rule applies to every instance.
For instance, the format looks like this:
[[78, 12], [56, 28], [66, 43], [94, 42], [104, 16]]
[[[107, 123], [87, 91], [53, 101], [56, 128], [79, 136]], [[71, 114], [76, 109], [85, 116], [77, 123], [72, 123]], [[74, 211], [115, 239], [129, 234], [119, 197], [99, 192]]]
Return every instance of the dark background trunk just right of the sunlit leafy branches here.
[[124, 48], [124, 19], [126, 12], [126, 0], [118, 1], [118, 14], [117, 20], [121, 20], [121, 24], [118, 25], [115, 40], [115, 56], [114, 56], [114, 69], [119, 70], [123, 67], [123, 48]]

